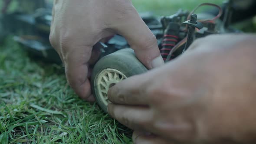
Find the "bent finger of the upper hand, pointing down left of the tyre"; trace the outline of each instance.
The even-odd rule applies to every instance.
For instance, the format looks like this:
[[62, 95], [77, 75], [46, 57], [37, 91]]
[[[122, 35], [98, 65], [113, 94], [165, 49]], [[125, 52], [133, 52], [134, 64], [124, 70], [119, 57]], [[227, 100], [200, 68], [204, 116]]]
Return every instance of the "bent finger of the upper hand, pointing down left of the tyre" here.
[[69, 85], [79, 97], [87, 101], [94, 101], [91, 85], [87, 78], [92, 48], [86, 46], [72, 46], [72, 48], [75, 50], [70, 51], [69, 49], [69, 52], [65, 52], [63, 56]]

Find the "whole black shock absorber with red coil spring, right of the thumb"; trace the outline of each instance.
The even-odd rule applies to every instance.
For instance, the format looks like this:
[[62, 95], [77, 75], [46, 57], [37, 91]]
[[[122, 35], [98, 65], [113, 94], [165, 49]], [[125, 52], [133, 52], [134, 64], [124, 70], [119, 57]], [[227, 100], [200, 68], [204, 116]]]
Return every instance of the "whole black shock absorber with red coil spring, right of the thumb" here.
[[161, 56], [164, 61], [171, 52], [171, 49], [177, 44], [179, 39], [180, 25], [177, 23], [169, 23], [164, 30], [164, 39], [162, 40]]

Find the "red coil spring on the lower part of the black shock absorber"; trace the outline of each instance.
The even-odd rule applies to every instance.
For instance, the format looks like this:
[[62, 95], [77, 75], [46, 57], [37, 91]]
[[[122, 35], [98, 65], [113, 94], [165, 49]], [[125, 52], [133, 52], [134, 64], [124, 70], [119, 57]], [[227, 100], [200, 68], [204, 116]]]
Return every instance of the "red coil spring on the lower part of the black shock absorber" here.
[[179, 37], [174, 35], [164, 35], [164, 39], [162, 40], [162, 49], [161, 56], [163, 57], [164, 61], [166, 60], [167, 56], [171, 52], [171, 49], [176, 45], [178, 42]]

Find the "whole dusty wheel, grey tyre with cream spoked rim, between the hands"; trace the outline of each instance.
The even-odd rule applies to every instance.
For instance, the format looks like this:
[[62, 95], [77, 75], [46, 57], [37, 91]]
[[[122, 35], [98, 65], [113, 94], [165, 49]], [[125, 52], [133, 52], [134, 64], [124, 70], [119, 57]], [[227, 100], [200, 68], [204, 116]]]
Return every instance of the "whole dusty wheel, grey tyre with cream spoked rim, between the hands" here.
[[132, 49], [121, 49], [100, 59], [92, 71], [92, 92], [98, 105], [107, 112], [108, 89], [132, 75], [148, 69], [136, 58]]

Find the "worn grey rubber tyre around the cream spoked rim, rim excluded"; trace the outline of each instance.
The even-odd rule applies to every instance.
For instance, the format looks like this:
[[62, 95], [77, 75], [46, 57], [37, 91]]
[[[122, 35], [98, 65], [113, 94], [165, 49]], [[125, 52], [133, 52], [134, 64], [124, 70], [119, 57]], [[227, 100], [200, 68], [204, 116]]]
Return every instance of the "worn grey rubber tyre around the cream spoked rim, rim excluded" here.
[[147, 72], [148, 69], [136, 58], [132, 49], [121, 49], [100, 59], [94, 66], [91, 77], [92, 92], [98, 102], [98, 105], [108, 112], [107, 105], [103, 103], [97, 95], [96, 78], [104, 69], [116, 69], [122, 72], [127, 78], [132, 75], [138, 75]]

